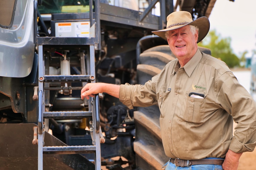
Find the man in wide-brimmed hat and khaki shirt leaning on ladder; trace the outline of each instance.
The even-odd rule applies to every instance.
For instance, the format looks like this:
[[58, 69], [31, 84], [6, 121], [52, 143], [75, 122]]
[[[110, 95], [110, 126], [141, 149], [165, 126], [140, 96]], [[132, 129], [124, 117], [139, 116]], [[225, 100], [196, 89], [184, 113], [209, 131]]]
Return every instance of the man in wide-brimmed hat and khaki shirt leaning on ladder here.
[[[208, 33], [207, 17], [185, 11], [153, 31], [167, 40], [177, 59], [145, 85], [88, 83], [81, 98], [108, 93], [133, 106], [158, 104], [162, 142], [171, 159], [163, 169], [236, 170], [243, 152], [256, 145], [256, 104], [227, 65], [197, 48]], [[238, 123], [234, 137], [233, 119]], [[224, 161], [223, 161], [224, 160]]]

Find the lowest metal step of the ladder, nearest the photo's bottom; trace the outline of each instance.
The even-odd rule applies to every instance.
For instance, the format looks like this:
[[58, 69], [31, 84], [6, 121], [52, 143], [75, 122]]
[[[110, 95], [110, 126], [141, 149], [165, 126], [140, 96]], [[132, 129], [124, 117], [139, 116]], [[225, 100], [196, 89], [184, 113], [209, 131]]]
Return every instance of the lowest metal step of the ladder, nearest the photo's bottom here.
[[44, 154], [81, 154], [95, 153], [96, 146], [81, 145], [81, 146], [44, 146]]

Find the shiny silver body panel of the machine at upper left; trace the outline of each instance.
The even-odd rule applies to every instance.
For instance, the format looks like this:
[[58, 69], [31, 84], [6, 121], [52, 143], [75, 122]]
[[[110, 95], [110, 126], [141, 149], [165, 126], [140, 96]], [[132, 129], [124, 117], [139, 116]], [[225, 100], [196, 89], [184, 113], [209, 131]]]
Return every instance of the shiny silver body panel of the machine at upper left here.
[[13, 25], [0, 27], [0, 76], [26, 77], [32, 69], [34, 1], [17, 1]]

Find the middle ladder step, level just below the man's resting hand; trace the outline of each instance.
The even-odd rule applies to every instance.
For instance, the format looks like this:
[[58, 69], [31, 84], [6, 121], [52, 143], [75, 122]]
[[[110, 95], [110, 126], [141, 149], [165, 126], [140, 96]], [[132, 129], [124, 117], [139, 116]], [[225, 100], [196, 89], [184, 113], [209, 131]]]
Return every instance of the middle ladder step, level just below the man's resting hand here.
[[46, 111], [43, 112], [44, 118], [55, 118], [55, 119], [75, 119], [75, 118], [86, 118], [91, 117], [91, 111]]

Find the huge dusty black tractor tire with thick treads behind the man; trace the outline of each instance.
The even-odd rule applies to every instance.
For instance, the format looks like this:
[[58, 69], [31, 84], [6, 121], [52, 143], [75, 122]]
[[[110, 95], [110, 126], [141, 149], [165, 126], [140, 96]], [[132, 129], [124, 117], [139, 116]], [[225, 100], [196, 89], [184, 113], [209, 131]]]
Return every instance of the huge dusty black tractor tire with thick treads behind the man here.
[[[206, 54], [211, 54], [208, 48], [199, 47], [199, 49]], [[140, 64], [137, 66], [138, 84], [143, 85], [151, 80], [175, 58], [168, 45], [155, 46], [143, 51], [139, 57]], [[169, 160], [162, 145], [159, 116], [158, 105], [138, 107], [134, 113], [136, 129], [134, 151], [137, 169], [161, 169], [162, 165]]]

